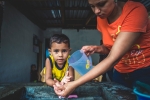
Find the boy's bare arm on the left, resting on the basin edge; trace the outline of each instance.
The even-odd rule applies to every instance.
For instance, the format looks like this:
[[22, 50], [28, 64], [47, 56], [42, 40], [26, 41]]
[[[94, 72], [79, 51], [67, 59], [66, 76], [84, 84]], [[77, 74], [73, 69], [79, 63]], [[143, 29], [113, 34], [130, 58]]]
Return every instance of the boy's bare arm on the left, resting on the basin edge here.
[[50, 63], [51, 62], [50, 62], [49, 58], [46, 58], [46, 61], [45, 61], [45, 66], [46, 66], [45, 81], [46, 81], [47, 85], [53, 86], [55, 84], [55, 81], [53, 80], [53, 77], [52, 77], [52, 66]]

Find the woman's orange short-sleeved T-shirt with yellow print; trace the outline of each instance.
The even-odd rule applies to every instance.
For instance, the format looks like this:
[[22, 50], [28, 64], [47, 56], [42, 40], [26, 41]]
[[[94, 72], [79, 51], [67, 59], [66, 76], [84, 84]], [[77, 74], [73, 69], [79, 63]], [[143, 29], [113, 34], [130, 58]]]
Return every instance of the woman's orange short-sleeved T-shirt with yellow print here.
[[142, 32], [136, 44], [115, 65], [117, 71], [129, 73], [150, 65], [150, 21], [144, 5], [126, 2], [122, 14], [112, 24], [97, 17], [97, 29], [102, 33], [103, 44], [108, 49], [113, 46], [119, 32]]

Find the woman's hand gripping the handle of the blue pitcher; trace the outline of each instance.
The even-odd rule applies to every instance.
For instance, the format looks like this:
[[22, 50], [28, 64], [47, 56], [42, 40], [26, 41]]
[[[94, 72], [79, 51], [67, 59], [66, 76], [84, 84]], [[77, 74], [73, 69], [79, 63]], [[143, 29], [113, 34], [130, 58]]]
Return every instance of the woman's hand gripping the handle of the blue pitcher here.
[[83, 46], [83, 47], [81, 48], [81, 50], [82, 50], [87, 56], [89, 56], [89, 55], [91, 55], [91, 54], [93, 54], [93, 53], [96, 52], [97, 46], [94, 46], [94, 45], [87, 45], [87, 46]]

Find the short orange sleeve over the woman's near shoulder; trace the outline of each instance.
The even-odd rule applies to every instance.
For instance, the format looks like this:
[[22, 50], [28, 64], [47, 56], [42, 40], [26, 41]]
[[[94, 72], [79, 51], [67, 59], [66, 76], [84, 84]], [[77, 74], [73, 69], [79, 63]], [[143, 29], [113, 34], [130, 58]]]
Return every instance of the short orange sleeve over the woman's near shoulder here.
[[[130, 7], [126, 10], [130, 10]], [[146, 32], [147, 23], [147, 10], [142, 4], [138, 3], [137, 7], [132, 9], [132, 11], [126, 16], [122, 24], [121, 31]]]

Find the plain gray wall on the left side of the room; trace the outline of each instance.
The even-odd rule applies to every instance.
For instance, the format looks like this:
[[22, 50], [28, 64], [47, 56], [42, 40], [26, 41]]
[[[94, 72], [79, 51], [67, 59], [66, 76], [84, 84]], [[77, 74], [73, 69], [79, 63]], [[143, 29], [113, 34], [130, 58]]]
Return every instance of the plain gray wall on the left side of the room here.
[[5, 2], [0, 48], [0, 83], [29, 82], [30, 66], [36, 64], [33, 34], [42, 30]]

